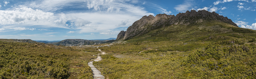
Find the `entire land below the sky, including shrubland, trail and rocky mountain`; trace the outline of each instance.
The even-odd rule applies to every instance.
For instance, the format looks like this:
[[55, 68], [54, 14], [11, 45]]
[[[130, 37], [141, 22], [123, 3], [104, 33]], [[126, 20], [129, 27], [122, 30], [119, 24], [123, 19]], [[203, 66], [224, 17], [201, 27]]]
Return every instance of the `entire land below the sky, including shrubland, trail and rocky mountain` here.
[[206, 10], [143, 16], [99, 44], [17, 40], [0, 40], [0, 78], [256, 78], [256, 31]]

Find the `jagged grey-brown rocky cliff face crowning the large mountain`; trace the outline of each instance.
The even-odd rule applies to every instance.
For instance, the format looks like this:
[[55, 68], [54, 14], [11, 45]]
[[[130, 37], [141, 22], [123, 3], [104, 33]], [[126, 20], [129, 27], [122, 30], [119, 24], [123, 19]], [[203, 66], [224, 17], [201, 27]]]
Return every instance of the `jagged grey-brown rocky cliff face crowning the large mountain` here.
[[206, 20], [217, 20], [238, 27], [231, 19], [228, 19], [228, 17], [220, 16], [215, 12], [208, 12], [206, 10], [196, 12], [195, 10], [191, 10], [190, 12], [179, 13], [176, 16], [166, 14], [158, 14], [155, 17], [152, 15], [143, 16], [140, 20], [135, 21], [127, 31], [121, 31], [118, 34], [116, 41], [127, 40], [134, 36], [147, 33], [151, 29], [157, 29], [168, 25], [189, 25], [191, 23], [203, 22]]

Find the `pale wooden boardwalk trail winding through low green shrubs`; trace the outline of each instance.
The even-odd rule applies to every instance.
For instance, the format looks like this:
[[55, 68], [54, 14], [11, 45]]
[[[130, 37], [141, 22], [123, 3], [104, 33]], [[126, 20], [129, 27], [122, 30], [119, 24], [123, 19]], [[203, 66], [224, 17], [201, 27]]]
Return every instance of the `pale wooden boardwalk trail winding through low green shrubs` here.
[[[98, 49], [99, 51], [101, 51], [101, 49]], [[101, 51], [102, 54], [106, 54], [105, 52]], [[98, 56], [96, 59], [94, 59], [94, 61], [101, 61], [102, 58], [101, 56]], [[103, 75], [101, 75], [101, 72], [94, 67], [94, 65], [92, 64], [93, 61], [89, 62], [88, 65], [91, 67], [92, 72], [93, 72], [93, 79], [105, 79], [105, 77]]]

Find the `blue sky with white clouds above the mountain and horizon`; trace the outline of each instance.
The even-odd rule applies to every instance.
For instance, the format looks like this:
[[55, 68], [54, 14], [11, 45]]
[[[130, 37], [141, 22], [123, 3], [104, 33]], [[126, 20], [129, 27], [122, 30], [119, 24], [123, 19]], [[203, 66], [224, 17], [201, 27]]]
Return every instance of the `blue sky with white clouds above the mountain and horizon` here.
[[0, 38], [116, 38], [142, 16], [207, 10], [256, 30], [256, 0], [0, 0]]

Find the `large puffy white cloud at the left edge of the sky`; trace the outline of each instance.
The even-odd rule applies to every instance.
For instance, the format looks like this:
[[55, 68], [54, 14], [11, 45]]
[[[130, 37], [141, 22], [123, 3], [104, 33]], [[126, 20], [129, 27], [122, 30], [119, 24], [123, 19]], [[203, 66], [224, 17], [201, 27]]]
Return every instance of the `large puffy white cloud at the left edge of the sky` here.
[[15, 7], [13, 10], [0, 10], [0, 25], [26, 23], [29, 21], [48, 21], [54, 13], [33, 10], [26, 6]]

